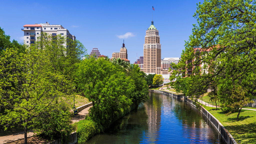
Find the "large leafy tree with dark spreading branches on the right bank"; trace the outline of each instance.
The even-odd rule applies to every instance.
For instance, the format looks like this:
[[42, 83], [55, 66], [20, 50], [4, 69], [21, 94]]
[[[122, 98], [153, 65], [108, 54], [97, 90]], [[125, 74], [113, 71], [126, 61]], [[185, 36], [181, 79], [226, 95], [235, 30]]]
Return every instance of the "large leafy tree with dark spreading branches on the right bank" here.
[[[211, 96], [227, 114], [251, 102], [256, 92], [255, 9], [251, 0], [199, 3], [194, 15], [198, 25], [193, 25], [181, 62], [174, 66], [172, 79], [192, 68], [190, 92], [197, 98], [214, 89]], [[236, 95], [237, 90], [242, 94]]]

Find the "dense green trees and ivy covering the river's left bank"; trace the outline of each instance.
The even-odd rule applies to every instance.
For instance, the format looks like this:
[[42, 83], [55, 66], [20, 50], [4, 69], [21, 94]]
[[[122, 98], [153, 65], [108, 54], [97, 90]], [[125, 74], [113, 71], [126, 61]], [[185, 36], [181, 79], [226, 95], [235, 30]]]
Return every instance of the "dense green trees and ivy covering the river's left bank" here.
[[93, 103], [78, 122], [78, 143], [108, 128], [148, 97], [146, 74], [121, 59], [87, 57], [77, 66], [77, 89]]

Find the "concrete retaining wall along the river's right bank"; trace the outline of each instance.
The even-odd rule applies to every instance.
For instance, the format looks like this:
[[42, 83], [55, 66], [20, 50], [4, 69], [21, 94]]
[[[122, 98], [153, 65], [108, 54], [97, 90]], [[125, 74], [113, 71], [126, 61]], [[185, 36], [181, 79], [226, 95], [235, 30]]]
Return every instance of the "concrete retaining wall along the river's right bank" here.
[[[185, 96], [180, 96], [180, 95], [176, 95], [167, 91], [161, 91], [161, 90], [151, 90], [149, 89], [148, 91], [151, 92], [159, 92], [159, 93], [163, 93], [169, 96], [173, 96], [176, 97], [177, 99], [184, 99], [184, 101], [186, 101], [187, 103], [193, 105], [194, 107], [196, 107], [196, 105], [193, 104], [193, 101], [186, 98]], [[237, 144], [237, 142], [235, 141], [235, 139], [232, 137], [232, 135], [228, 132], [228, 130], [219, 122], [218, 119], [216, 119], [209, 111], [207, 111], [204, 107], [201, 106], [201, 110], [200, 110], [206, 117], [207, 119], [212, 123], [212, 125], [214, 125], [214, 127], [218, 130], [218, 132], [220, 133], [221, 137], [224, 139], [224, 141], [227, 144]]]

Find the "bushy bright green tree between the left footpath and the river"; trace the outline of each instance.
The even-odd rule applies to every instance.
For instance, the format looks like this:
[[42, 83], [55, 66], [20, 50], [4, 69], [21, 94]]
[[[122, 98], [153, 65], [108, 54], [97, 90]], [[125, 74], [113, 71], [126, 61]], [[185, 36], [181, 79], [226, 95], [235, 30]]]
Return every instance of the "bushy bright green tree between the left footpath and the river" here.
[[108, 127], [121, 109], [132, 104], [134, 80], [119, 65], [104, 58], [87, 57], [78, 64], [76, 75], [78, 87], [93, 103], [90, 115], [103, 127]]

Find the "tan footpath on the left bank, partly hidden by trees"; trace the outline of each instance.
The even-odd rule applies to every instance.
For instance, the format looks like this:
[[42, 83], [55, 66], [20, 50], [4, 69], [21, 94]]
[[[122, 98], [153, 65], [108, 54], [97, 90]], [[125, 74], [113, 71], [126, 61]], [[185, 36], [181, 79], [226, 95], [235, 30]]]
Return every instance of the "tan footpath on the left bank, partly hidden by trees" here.
[[[90, 107], [92, 107], [92, 106], [90, 106]], [[89, 114], [88, 110], [90, 109], [90, 107], [83, 109], [82, 111], [78, 112], [78, 115], [72, 117], [72, 119], [71, 119], [72, 123], [83, 120], [85, 118], [85, 116], [87, 114]], [[27, 138], [32, 137], [33, 135], [34, 135], [33, 131], [30, 130], [27, 133]], [[13, 141], [21, 140], [21, 139], [24, 139], [24, 131], [15, 133], [12, 135], [0, 137], [0, 144], [9, 143], [9, 142], [13, 142]]]

